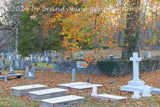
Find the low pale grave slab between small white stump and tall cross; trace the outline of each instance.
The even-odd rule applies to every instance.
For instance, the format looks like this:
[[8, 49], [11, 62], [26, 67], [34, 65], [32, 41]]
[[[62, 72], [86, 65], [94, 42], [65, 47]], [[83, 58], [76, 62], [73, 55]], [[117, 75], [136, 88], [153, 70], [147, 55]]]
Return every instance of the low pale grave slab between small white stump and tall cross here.
[[127, 99], [127, 97], [111, 95], [111, 94], [98, 94], [97, 98], [101, 100], [111, 100], [111, 101], [119, 101]]

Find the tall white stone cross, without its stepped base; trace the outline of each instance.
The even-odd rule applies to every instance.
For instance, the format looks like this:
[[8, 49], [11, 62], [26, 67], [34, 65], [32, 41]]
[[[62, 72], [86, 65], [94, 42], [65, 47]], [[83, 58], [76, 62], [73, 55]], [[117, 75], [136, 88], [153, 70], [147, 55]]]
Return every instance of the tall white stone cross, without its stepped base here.
[[138, 57], [137, 52], [133, 52], [133, 57], [130, 57], [130, 61], [133, 61], [133, 80], [139, 80], [139, 62], [142, 61], [141, 57]]

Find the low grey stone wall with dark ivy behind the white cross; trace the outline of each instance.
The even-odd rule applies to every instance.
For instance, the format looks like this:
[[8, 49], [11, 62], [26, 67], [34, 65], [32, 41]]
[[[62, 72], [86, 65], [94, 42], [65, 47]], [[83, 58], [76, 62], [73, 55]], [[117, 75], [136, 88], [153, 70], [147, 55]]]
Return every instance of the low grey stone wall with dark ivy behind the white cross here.
[[[72, 73], [73, 68], [76, 69], [77, 73], [109, 76], [122, 76], [133, 72], [133, 63], [131, 61], [109, 60], [108, 62], [104, 62], [100, 61], [102, 67], [99, 64], [89, 63], [87, 68], [77, 68], [76, 61], [54, 61], [53, 72]], [[158, 63], [159, 61], [157, 60], [143, 60], [140, 62], [140, 72], [156, 71], [158, 69]]]

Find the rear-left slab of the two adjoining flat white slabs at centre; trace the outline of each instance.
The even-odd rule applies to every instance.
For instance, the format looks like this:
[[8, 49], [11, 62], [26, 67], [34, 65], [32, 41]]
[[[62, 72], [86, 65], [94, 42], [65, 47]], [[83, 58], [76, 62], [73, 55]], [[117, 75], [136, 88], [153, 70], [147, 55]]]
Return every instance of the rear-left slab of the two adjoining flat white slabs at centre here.
[[59, 88], [70, 88], [73, 86], [80, 86], [80, 85], [89, 85], [90, 83], [87, 82], [73, 82], [73, 83], [65, 83], [59, 84]]

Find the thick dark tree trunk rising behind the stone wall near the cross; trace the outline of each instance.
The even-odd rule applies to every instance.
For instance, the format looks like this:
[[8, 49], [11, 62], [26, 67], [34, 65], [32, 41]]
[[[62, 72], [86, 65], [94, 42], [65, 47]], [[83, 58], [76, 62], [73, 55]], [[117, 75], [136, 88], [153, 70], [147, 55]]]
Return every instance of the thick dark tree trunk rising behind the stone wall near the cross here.
[[122, 59], [125, 60], [128, 60], [133, 52], [139, 52], [140, 0], [129, 0], [129, 6], [130, 9], [127, 12], [124, 46], [122, 50]]

